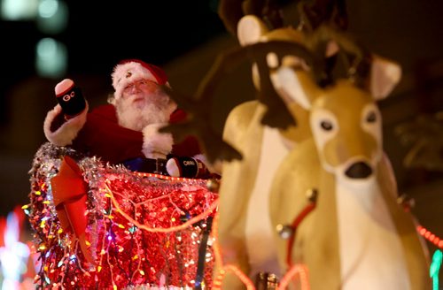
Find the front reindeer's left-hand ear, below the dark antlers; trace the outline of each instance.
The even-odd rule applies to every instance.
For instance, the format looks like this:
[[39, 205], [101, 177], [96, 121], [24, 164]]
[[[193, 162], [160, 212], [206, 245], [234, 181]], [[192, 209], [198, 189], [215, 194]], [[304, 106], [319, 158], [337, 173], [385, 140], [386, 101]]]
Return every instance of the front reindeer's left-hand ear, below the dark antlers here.
[[311, 108], [315, 96], [320, 94], [320, 88], [315, 85], [308, 72], [294, 71], [291, 67], [279, 68], [272, 80], [280, 94], [305, 110]]

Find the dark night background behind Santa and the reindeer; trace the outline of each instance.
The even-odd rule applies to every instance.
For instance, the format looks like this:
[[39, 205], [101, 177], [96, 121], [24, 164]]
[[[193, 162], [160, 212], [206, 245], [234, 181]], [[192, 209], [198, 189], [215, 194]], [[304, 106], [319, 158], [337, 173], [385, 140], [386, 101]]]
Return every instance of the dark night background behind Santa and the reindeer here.
[[[173, 88], [193, 92], [214, 57], [237, 45], [216, 13], [216, 0], [67, 4], [68, 26], [59, 34], [43, 34], [33, 21], [0, 21], [1, 215], [28, 202], [27, 171], [45, 141], [43, 118], [56, 104], [53, 88], [58, 80], [35, 75], [39, 39], [50, 36], [66, 44], [69, 63], [64, 77], [76, 80], [90, 103], [103, 103], [112, 92], [110, 73], [120, 59], [136, 57], [163, 66]], [[403, 68], [399, 87], [381, 103], [385, 150], [400, 191], [416, 197], [420, 220], [441, 236], [441, 172], [402, 167], [407, 149], [400, 146], [393, 128], [421, 113], [443, 110], [443, 1], [348, 1], [347, 10], [349, 32]], [[249, 67], [240, 69], [239, 77], [235, 73], [222, 89], [225, 94], [249, 97]]]

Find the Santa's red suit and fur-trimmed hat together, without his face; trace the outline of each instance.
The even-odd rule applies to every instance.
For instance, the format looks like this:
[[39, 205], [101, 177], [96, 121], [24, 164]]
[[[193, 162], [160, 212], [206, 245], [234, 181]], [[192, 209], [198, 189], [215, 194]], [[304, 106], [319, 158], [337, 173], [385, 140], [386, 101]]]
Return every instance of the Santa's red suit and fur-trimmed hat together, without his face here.
[[[138, 80], [151, 80], [160, 86], [169, 86], [165, 72], [155, 65], [146, 64], [138, 59], [123, 60], [116, 65], [112, 79], [115, 89], [114, 101], [119, 100], [123, 90]], [[71, 81], [70, 84], [73, 82]], [[58, 85], [62, 88], [63, 82]], [[70, 88], [69, 86], [67, 87]], [[57, 91], [58, 87], [56, 87], [56, 95], [58, 95]], [[63, 92], [61, 95], [65, 94], [65, 89], [60, 89], [60, 92]], [[167, 108], [167, 114], [170, 114], [169, 123], [172, 124], [186, 117], [184, 111], [175, 108], [174, 103], [170, 103], [170, 107]], [[175, 143], [171, 134], [158, 132], [159, 127], [165, 124], [150, 124], [144, 126], [141, 132], [120, 126], [113, 104], [97, 107], [90, 112], [88, 110], [86, 103], [86, 108], [80, 114], [65, 119], [62, 107], [58, 104], [48, 112], [45, 118], [43, 129], [46, 138], [54, 145], [71, 146], [86, 156], [97, 156], [102, 161], [111, 164], [122, 163], [132, 170], [141, 171], [139, 166], [144, 166], [145, 170], [152, 172], [152, 166], [157, 168], [160, 163], [165, 168], [161, 172], [167, 171], [173, 176], [185, 172], [182, 166], [185, 164], [180, 165], [178, 157], [198, 156], [199, 160], [191, 161], [198, 165], [195, 176], [206, 173], [206, 166], [203, 166], [201, 162], [201, 159], [205, 158], [200, 152], [197, 139], [188, 137], [183, 142]], [[165, 164], [164, 158], [168, 154], [176, 158], [168, 160], [168, 164]], [[144, 160], [140, 161], [143, 158]], [[187, 168], [193, 168], [193, 166]], [[193, 172], [188, 173], [194, 176]]]

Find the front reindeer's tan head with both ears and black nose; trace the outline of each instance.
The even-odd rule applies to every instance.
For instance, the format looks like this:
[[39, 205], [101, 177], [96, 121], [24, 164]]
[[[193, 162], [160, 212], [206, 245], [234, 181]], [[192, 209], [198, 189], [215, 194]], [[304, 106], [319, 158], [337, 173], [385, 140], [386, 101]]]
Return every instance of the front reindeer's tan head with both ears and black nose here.
[[400, 68], [375, 58], [370, 89], [353, 80], [317, 86], [309, 72], [281, 66], [274, 86], [286, 102], [309, 111], [309, 126], [323, 168], [340, 179], [362, 180], [374, 176], [383, 155], [382, 116], [377, 99], [390, 93], [400, 80]]

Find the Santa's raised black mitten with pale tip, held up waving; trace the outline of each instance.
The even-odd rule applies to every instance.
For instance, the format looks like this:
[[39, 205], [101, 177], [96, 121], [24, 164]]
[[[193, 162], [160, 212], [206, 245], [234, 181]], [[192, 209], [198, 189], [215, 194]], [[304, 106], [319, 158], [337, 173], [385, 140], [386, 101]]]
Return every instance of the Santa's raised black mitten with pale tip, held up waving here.
[[66, 118], [73, 118], [86, 108], [82, 90], [75, 86], [73, 80], [60, 81], [55, 87], [55, 95]]

